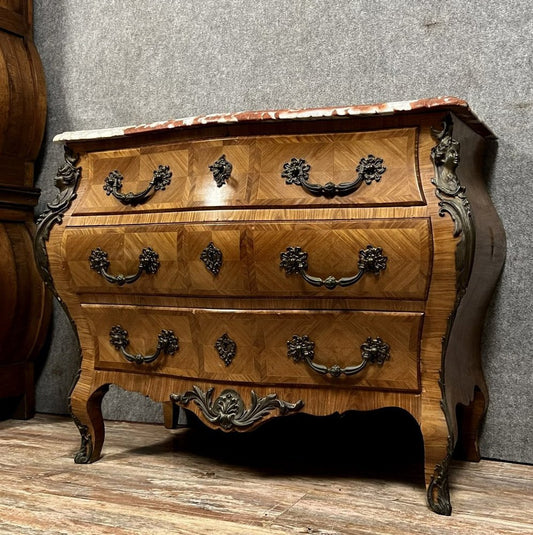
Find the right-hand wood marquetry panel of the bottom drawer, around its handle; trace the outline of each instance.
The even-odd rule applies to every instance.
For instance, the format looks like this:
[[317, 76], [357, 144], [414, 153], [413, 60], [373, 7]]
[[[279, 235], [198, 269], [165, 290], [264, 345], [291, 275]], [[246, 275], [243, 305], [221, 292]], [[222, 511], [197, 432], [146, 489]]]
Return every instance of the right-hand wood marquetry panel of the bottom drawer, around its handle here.
[[[418, 388], [418, 334], [423, 314], [378, 312], [294, 312], [267, 315], [261, 320], [260, 352], [264, 379], [274, 383], [329, 386]], [[307, 335], [315, 343], [314, 361], [328, 367], [356, 366], [361, 362], [361, 344], [380, 337], [390, 346], [390, 360], [368, 364], [353, 376], [320, 375], [304, 362], [287, 357], [287, 341]]]

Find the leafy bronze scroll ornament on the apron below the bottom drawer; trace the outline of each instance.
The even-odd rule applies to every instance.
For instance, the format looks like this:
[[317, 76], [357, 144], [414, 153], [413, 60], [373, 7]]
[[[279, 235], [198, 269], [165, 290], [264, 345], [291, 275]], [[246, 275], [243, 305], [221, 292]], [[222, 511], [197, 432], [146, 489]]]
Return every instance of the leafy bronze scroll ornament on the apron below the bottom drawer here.
[[213, 390], [210, 388], [204, 392], [197, 386], [193, 386], [192, 390], [185, 394], [171, 394], [170, 400], [182, 407], [194, 401], [206, 420], [224, 431], [246, 429], [266, 418], [276, 409], [281, 415], [285, 415], [298, 411], [304, 406], [302, 400], [288, 403], [278, 399], [276, 394], [268, 394], [260, 398], [252, 390], [250, 408], [246, 409], [243, 399], [235, 390], [224, 390], [216, 399], [213, 399]]

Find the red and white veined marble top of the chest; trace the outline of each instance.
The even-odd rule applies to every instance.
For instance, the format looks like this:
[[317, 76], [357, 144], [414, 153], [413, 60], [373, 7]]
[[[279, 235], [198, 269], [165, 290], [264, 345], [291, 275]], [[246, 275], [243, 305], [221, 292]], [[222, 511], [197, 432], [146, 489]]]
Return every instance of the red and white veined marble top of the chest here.
[[457, 97], [437, 97], [420, 100], [406, 100], [401, 102], [386, 102], [383, 104], [364, 104], [360, 106], [241, 111], [235, 113], [198, 115], [196, 117], [171, 119], [168, 121], [141, 124], [136, 126], [64, 132], [55, 136], [54, 142], [65, 143], [71, 141], [109, 139], [199, 125], [279, 120], [310, 120], [324, 119], [328, 117], [367, 117], [372, 115], [394, 115], [407, 111], [430, 111], [438, 108], [453, 111], [481, 135], [485, 137], [495, 137], [489, 128], [485, 126], [470, 110], [466, 101]]

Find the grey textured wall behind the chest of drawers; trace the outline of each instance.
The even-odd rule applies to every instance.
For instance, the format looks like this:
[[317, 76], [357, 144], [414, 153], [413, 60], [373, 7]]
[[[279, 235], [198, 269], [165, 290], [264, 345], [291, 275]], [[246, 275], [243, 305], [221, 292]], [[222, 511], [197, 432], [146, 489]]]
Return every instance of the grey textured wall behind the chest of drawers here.
[[[533, 4], [527, 0], [35, 0], [48, 84], [38, 167], [56, 195], [62, 149], [83, 130], [248, 109], [454, 95], [499, 136], [489, 189], [507, 263], [483, 343], [489, 458], [533, 463]], [[56, 307], [37, 409], [66, 413], [79, 367]], [[157, 421], [159, 405], [112, 389], [108, 418]]]

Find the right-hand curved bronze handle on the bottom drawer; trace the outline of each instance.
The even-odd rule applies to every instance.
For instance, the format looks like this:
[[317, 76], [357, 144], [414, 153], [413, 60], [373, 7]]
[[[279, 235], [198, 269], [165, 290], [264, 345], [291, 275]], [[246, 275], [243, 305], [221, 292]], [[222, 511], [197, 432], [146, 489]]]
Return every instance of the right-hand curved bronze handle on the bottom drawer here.
[[309, 339], [309, 336], [293, 335], [290, 340], [287, 340], [287, 356], [294, 360], [294, 362], [304, 361], [315, 372], [321, 375], [331, 375], [332, 377], [339, 377], [340, 375], [355, 375], [362, 371], [366, 365], [379, 364], [380, 366], [390, 359], [390, 347], [381, 338], [367, 338], [366, 342], [361, 345], [362, 361], [357, 366], [347, 366], [341, 368], [338, 364], [333, 366], [325, 366], [324, 364], [316, 364], [313, 362], [315, 358], [315, 343]]

